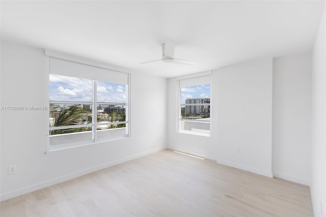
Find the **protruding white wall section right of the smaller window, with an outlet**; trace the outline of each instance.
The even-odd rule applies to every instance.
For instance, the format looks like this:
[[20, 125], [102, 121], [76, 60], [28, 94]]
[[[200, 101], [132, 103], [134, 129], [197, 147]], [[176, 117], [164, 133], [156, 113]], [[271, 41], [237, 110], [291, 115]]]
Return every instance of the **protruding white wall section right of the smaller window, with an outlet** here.
[[217, 161], [272, 177], [272, 59], [231, 65], [216, 72]]

